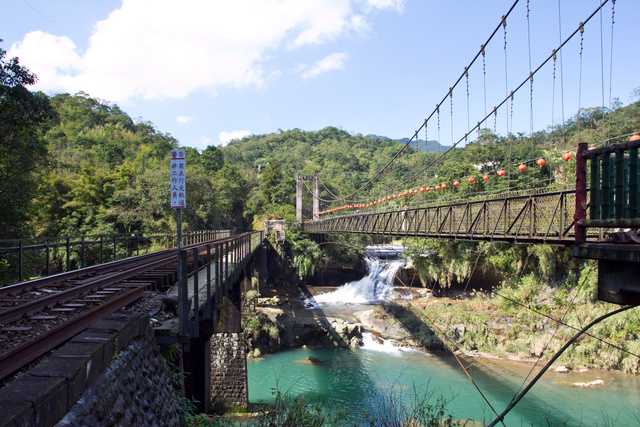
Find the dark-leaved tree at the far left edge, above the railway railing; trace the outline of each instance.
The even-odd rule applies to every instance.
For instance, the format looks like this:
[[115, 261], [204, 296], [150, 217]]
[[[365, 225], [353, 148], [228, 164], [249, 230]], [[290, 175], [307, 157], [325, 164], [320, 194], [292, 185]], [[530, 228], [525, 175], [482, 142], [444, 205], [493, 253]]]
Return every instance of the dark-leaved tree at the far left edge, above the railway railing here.
[[27, 230], [48, 161], [43, 125], [54, 112], [46, 95], [27, 89], [36, 76], [18, 58], [5, 56], [0, 48], [0, 238], [12, 238]]

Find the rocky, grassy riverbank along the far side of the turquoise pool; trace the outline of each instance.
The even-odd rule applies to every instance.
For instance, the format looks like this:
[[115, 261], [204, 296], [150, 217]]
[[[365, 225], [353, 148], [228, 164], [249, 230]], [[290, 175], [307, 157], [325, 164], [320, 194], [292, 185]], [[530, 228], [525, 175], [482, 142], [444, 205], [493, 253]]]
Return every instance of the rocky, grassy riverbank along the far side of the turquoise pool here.
[[[249, 354], [259, 356], [301, 346], [355, 347], [361, 342], [362, 332], [371, 332], [382, 339], [394, 340], [396, 345], [425, 353], [448, 351], [447, 341], [456, 354], [467, 358], [542, 365], [575, 333], [573, 328], [557, 326], [551, 320], [554, 316], [562, 318], [561, 314], [566, 313], [548, 310], [545, 315], [535, 315], [528, 310], [509, 311], [500, 302], [501, 297], [475, 291], [457, 298], [438, 298], [423, 288], [413, 288], [416, 299], [411, 301], [399, 298], [379, 305], [308, 307], [310, 297], [334, 289], [295, 285], [264, 289], [256, 310], [265, 325], [270, 325], [271, 333], [265, 339], [264, 333], [254, 332], [254, 336], [248, 338]], [[398, 291], [406, 297], [406, 291]], [[553, 298], [549, 296], [549, 299]], [[564, 317], [566, 322], [571, 321]], [[613, 360], [586, 352], [593, 345], [592, 341], [602, 344], [591, 337], [578, 340], [553, 369], [637, 372], [634, 365], [622, 363], [626, 358]], [[627, 369], [617, 368], [621, 366]]]

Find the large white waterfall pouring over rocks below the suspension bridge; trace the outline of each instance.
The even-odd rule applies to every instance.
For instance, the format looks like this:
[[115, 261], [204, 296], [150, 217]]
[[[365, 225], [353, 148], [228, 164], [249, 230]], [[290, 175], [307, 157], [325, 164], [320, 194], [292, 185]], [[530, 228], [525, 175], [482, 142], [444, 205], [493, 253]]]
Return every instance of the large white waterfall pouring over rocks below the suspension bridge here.
[[[370, 247], [367, 248], [367, 252]], [[401, 250], [399, 251], [402, 252]], [[395, 298], [393, 279], [395, 273], [404, 264], [397, 259], [386, 263], [366, 257], [367, 275], [355, 282], [349, 282], [333, 292], [316, 295], [307, 302], [317, 304], [367, 304], [387, 301]]]

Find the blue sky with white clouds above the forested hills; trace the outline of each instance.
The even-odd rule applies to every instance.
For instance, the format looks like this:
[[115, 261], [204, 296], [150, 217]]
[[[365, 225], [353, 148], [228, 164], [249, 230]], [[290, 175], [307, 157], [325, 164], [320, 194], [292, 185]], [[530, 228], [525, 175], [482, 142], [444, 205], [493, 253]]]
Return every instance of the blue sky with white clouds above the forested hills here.
[[327, 126], [451, 145], [637, 100], [637, 0], [527, 80], [600, 3], [520, 0], [498, 28], [514, 0], [3, 0], [0, 47], [33, 90], [117, 104], [182, 146]]

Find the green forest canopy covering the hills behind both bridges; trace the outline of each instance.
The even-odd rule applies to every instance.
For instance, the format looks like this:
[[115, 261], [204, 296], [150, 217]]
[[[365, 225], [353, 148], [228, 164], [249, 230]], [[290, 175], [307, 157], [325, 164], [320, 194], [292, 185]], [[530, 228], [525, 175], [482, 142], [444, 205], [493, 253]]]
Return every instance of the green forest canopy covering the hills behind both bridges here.
[[[36, 76], [5, 56], [0, 49], [0, 238], [175, 230], [168, 165], [170, 150], [180, 142], [86, 93], [31, 92]], [[183, 225], [186, 230], [251, 228], [267, 215], [293, 221], [297, 173], [319, 174], [320, 210], [349, 203], [341, 198], [360, 188], [353, 200], [453, 180], [460, 180], [459, 195], [507, 185], [566, 184], [571, 170], [558, 153], [575, 150], [578, 140], [598, 143], [638, 129], [640, 102], [616, 103], [611, 109], [584, 109], [563, 125], [532, 135], [482, 129], [444, 157], [440, 153], [449, 147], [437, 141], [411, 143], [371, 183], [403, 142], [327, 127], [252, 135], [204, 150], [182, 147], [187, 153]], [[471, 185], [461, 179], [539, 157], [548, 159], [545, 167], [514, 173], [508, 182]], [[310, 208], [308, 185], [303, 193]], [[439, 197], [434, 193], [429, 197]]]

